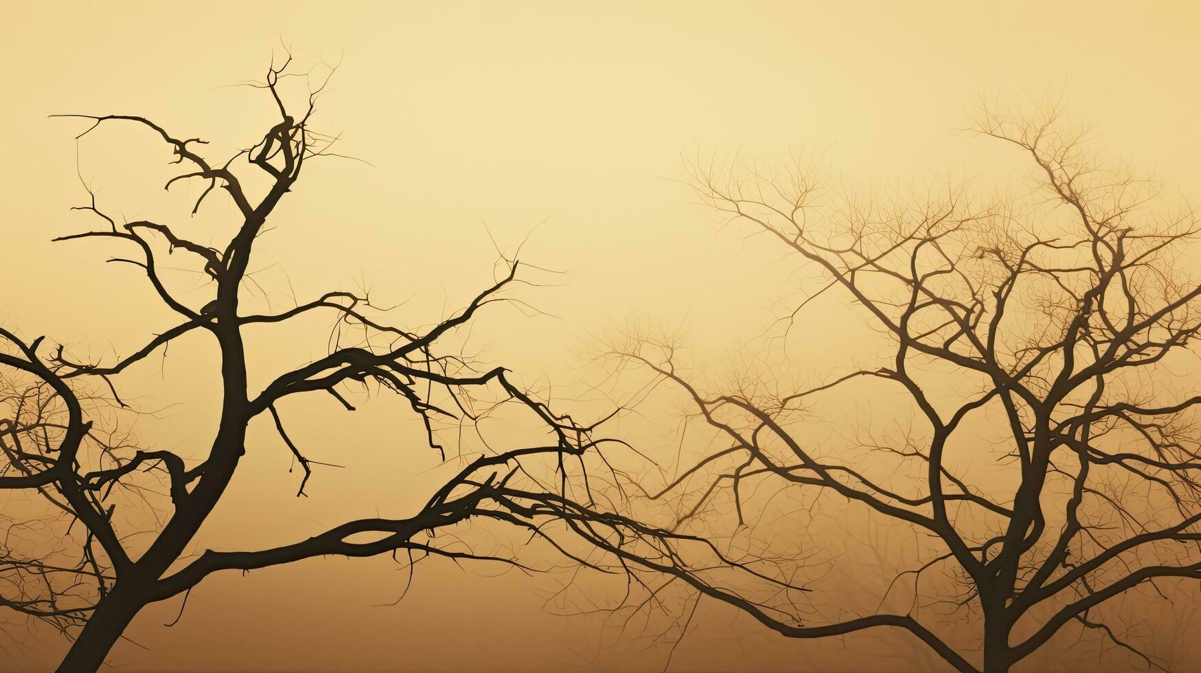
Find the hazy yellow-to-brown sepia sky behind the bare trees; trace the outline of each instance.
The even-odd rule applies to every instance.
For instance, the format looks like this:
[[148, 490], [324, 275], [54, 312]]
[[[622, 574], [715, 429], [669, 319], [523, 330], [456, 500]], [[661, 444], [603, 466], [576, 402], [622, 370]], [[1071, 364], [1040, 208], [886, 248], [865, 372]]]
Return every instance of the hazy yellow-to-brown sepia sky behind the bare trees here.
[[[1093, 126], [1097, 149], [1167, 192], [1195, 195], [1199, 22], [1201, 7], [1182, 1], [8, 4], [0, 323], [80, 357], [127, 353], [172, 324], [136, 269], [104, 263], [116, 254], [108, 244], [50, 239], [95, 226], [68, 210], [86, 202], [79, 177], [129, 219], [186, 218], [202, 185], [165, 192], [169, 153], [136, 129], [80, 141], [77, 177], [73, 138], [86, 123], [48, 115], [141, 114], [227, 156], [261, 137], [273, 112], [261, 91], [233, 85], [261, 78], [282, 43], [301, 71], [337, 65], [315, 124], [362, 161], [306, 167], [269, 222], [252, 267], [273, 300], [365, 286], [404, 303], [405, 322], [428, 324], [490, 282], [492, 239], [512, 251], [528, 236], [522, 260], [564, 272], [521, 294], [549, 315], [490, 314], [472, 334], [482, 358], [527, 385], [573, 389], [588, 380], [591, 335], [631, 318], [681, 327], [717, 357], [763, 333], [794, 269], [697, 204], [681, 184], [683, 156], [801, 153], [836, 184], [987, 185], [1017, 157], [957, 129], [981, 96], [1016, 108], [1050, 97]], [[229, 214], [213, 197], [187, 226], [220, 227]], [[190, 297], [205, 292], [175, 281]], [[853, 322], [831, 315], [801, 352], [837, 361]], [[262, 336], [262, 367], [312, 357], [323, 347], [315, 334]], [[193, 346], [121, 385], [156, 412], [138, 421], [144, 437], [199, 452], [216, 405], [205, 346]], [[297, 500], [286, 449], [252, 428], [262, 451], [247, 455], [201, 548], [265, 547], [424, 501], [436, 457], [419, 435], [407, 448], [380, 439], [402, 407], [374, 406], [363, 422], [328, 406], [294, 411], [297, 434], [321, 447], [313, 458], [347, 467], [318, 472], [311, 498]], [[118, 645], [114, 661], [125, 671], [664, 666], [665, 645], [610, 651], [596, 619], [548, 614], [552, 582], [497, 572], [430, 562], [389, 607], [380, 604], [407, 572], [382, 559], [216, 576], [178, 627], [161, 626], [178, 601], [145, 611], [129, 633], [142, 647]], [[673, 669], [856, 661], [841, 644], [773, 638], [721, 611], [698, 629]], [[0, 666], [44, 666], [61, 650], [35, 632]]]

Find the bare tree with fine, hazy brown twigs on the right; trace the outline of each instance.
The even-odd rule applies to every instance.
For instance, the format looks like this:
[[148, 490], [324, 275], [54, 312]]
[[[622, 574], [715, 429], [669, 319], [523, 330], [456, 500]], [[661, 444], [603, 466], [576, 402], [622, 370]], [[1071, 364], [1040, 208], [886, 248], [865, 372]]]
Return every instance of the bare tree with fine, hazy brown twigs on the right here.
[[[1188, 369], [1201, 330], [1188, 255], [1201, 228], [1187, 208], [1165, 215], [1153, 184], [1105, 168], [1056, 117], [980, 115], [974, 130], [1020, 150], [1036, 181], [987, 202], [942, 186], [824, 201], [832, 191], [800, 163], [689, 162], [706, 204], [819, 278], [765, 341], [778, 359], [733, 387], [689, 375], [676, 339], [643, 330], [608, 346], [646, 386], [682, 394], [687, 427], [712, 441], [650, 495], [673, 504], [677, 528], [705, 517], [711, 536], [723, 512], [752, 531], [800, 512], [815, 544], [814, 514], [837, 519], [824, 532], [835, 540], [848, 532], [837, 522], [861, 512], [908, 531], [919, 552], [866, 609], [842, 601], [847, 568], [767, 592], [704, 562], [653, 570], [788, 637], [901, 630], [958, 671], [1009, 671], [1071, 631], [1160, 666], [1123, 626], [1137, 621], [1123, 604], [1201, 579], [1201, 395]], [[844, 373], [788, 385], [778, 373], [823, 320], [806, 310], [821, 300], [849, 302], [883, 345]], [[841, 441], [811, 423], [824, 401], [855, 399], [914, 421], [868, 419]], [[764, 505], [779, 495], [795, 501], [791, 519]]]

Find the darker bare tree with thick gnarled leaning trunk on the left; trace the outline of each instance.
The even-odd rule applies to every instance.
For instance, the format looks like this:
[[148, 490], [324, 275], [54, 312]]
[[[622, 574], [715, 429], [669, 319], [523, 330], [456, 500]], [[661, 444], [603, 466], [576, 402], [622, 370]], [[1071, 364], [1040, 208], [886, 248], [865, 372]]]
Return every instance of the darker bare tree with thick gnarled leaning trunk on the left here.
[[[139, 269], [159, 299], [178, 315], [178, 322], [129, 356], [94, 363], [76, 362], [62, 346], [48, 345], [43, 338], [26, 340], [17, 330], [0, 329], [5, 344], [0, 351], [0, 449], [5, 460], [0, 489], [34, 495], [23, 500], [30, 504], [29, 518], [17, 508], [5, 510], [0, 607], [48, 620], [74, 639], [62, 671], [96, 669], [143, 607], [180, 595], [186, 601], [186, 592], [214, 572], [323, 555], [377, 554], [399, 554], [408, 562], [440, 555], [525, 567], [510, 555], [440, 546], [435, 534], [468, 519], [537, 531], [537, 522], [524, 514], [536, 518], [539, 501], [563, 501], [573, 488], [582, 488], [569, 474], [582, 470], [585, 454], [594, 453], [605, 441], [592, 437], [592, 425], [576, 423], [534, 399], [504, 368], [480, 367], [455, 347], [455, 330], [468, 328], [478, 312], [490, 304], [515, 302], [507, 292], [520, 282], [519, 273], [526, 268], [516, 258], [502, 258], [495, 282], [449, 317], [422, 329], [386, 322], [384, 312], [365, 294], [353, 292], [328, 292], [281, 312], [247, 310], [247, 268], [256, 240], [279, 203], [298, 187], [304, 167], [333, 155], [334, 138], [311, 126], [313, 103], [324, 84], [306, 93], [299, 114], [292, 112], [285, 102], [288, 95], [281, 90], [285, 77], [293, 75], [287, 71], [289, 62], [291, 58], [282, 66], [273, 64], [265, 81], [257, 84], [277, 120], [253, 147], [228, 160], [205, 157], [201, 150], [204, 141], [181, 139], [144, 117], [70, 115], [89, 124], [80, 136], [114, 124], [145, 130], [166, 143], [174, 163], [184, 166], [167, 187], [199, 181], [204, 189], [192, 213], [205, 198], [223, 192], [238, 222], [223, 244], [203, 244], [185, 237], [175, 225], [119, 222], [89, 190], [90, 202], [80, 210], [101, 226], [59, 240], [126, 248], [127, 252], [119, 251], [110, 261]], [[213, 288], [210, 302], [195, 306], [179, 298], [162, 278], [168, 255], [202, 272]], [[247, 381], [247, 358], [253, 356], [244, 330], [303, 324], [294, 318], [313, 314], [333, 316], [336, 335], [328, 355], [279, 373], [253, 389]], [[124, 407], [115, 385], [119, 375], [193, 333], [211, 339], [220, 350], [214, 362], [221, 377], [220, 424], [207, 454], [191, 460], [172, 451], [144, 448], [119, 433], [114, 437], [113, 415]], [[485, 446], [478, 455], [450, 447], [459, 451], [450, 458], [461, 459], [462, 469], [410, 517], [348, 520], [275, 548], [195, 553], [193, 537], [247, 451], [247, 425], [257, 417], [270, 418], [304, 472], [298, 495], [304, 494], [317, 461], [306, 457], [301, 440], [288, 434], [287, 403], [319, 393], [354, 411], [352, 387], [399, 395], [424, 423], [428, 449], [443, 452], [443, 434], [453, 439], [488, 415], [504, 412], [519, 419], [530, 440], [503, 449]], [[520, 434], [507, 437], [522, 441]], [[167, 493], [156, 498], [154, 484], [166, 484]], [[114, 516], [138, 499], [160, 511], [160, 523], [149, 530], [130, 530], [123, 523], [127, 517]], [[579, 499], [586, 501], [582, 494]], [[53, 516], [36, 513], [36, 502], [49, 507]], [[20, 552], [14, 548], [17, 542], [36, 553]]]

